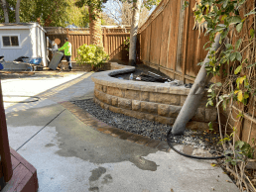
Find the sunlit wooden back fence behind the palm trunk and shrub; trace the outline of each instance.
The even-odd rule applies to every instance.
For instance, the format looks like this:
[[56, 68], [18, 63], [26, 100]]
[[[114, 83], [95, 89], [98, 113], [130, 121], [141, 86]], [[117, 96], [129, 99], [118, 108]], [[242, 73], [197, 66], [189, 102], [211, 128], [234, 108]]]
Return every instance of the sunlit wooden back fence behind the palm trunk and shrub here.
[[[72, 61], [74, 61], [77, 56], [77, 48], [84, 44], [90, 44], [89, 29], [45, 28], [45, 30], [47, 31], [47, 37], [49, 37], [50, 40], [54, 41], [57, 38], [61, 40], [62, 43], [60, 47], [64, 45], [64, 39], [68, 38], [72, 45]], [[128, 60], [128, 51], [125, 50], [124, 41], [130, 37], [130, 29], [103, 28], [102, 36], [103, 47], [110, 55], [111, 60]]]

